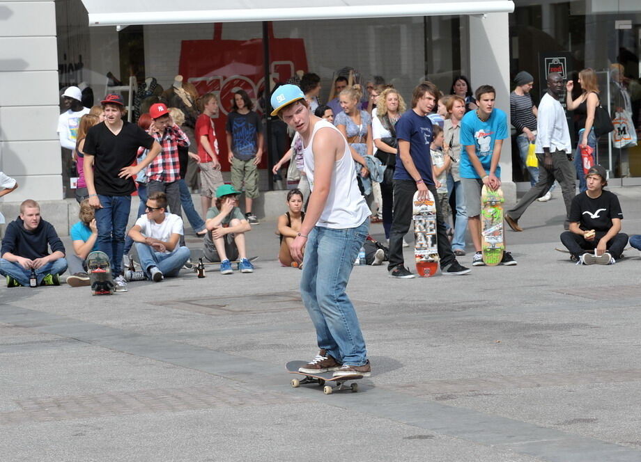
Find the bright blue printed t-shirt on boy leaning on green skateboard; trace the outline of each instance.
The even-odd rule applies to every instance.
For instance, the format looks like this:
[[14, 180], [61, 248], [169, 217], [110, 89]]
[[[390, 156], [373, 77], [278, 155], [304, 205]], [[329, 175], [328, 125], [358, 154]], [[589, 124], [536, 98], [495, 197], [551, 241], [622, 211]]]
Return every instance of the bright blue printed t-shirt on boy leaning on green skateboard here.
[[[474, 169], [470, 156], [465, 150], [466, 146], [474, 146], [477, 157], [486, 173], [490, 173], [492, 153], [496, 140], [507, 138], [507, 116], [500, 109], [493, 109], [490, 117], [482, 122], [477, 116], [477, 111], [470, 111], [461, 120], [461, 167], [459, 173], [462, 178], [479, 178]], [[500, 177], [501, 168], [496, 167], [495, 175]]]

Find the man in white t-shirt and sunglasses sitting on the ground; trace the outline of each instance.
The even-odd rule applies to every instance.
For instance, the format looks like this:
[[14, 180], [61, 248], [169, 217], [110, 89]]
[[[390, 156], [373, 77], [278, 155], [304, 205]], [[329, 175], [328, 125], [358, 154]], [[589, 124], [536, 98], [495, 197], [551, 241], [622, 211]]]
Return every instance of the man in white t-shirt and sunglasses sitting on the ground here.
[[167, 195], [155, 191], [147, 198], [146, 215], [129, 230], [142, 271], [125, 271], [126, 280], [173, 278], [190, 259], [190, 249], [178, 245], [183, 236], [183, 218], [167, 213]]

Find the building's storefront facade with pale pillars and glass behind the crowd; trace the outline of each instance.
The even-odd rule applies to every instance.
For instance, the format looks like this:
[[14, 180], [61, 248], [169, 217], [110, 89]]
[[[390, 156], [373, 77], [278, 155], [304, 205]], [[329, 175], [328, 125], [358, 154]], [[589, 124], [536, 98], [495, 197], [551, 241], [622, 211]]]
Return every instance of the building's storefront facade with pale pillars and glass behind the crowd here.
[[[369, 17], [364, 10], [362, 17], [352, 19], [273, 21], [267, 29], [257, 21], [127, 26], [123, 19], [125, 24], [118, 27], [89, 26], [85, 4], [93, 8], [91, 3], [97, 2], [0, 1], [0, 168], [20, 183], [7, 200], [72, 197], [72, 173], [63, 171], [56, 135], [59, 95], [66, 86], [88, 86], [99, 102], [109, 86], [118, 86], [116, 91], [127, 98], [130, 76], [135, 77], [135, 90], [152, 79], [167, 90], [181, 74], [199, 93], [219, 94], [220, 133], [235, 89], [247, 90], [261, 103], [265, 36], [272, 79], [285, 81], [298, 71], [315, 72], [323, 86], [321, 102], [330, 97], [334, 78], [348, 70], [361, 83], [383, 77], [408, 101], [419, 81], [434, 81], [447, 94], [452, 79], [463, 74], [472, 89], [493, 85], [497, 107], [509, 111], [511, 78], [520, 70], [534, 76], [536, 102], [543, 93], [548, 58], [564, 58], [569, 76], [594, 67], [602, 88], [608, 90], [615, 88], [611, 71], [619, 63], [626, 78], [621, 85], [630, 95], [631, 118], [639, 128], [638, 1], [516, 0], [513, 13], [485, 15]], [[440, 5], [434, 3], [435, 8]], [[617, 102], [605, 99], [610, 109], [617, 109]], [[504, 144], [501, 161], [508, 196], [516, 194], [517, 186], [529, 184], [513, 144]], [[610, 137], [604, 137], [598, 160], [617, 179], [615, 184], [641, 184], [639, 149], [614, 148]], [[263, 182], [262, 187], [267, 189], [268, 184]]]

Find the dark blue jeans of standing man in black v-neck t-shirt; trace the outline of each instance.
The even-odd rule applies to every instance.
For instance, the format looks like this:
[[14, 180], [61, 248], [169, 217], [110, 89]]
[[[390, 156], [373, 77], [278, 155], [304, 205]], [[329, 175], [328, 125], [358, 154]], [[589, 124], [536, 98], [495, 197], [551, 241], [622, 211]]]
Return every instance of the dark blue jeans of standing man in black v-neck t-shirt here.
[[105, 252], [111, 262], [114, 278], [120, 276], [125, 248], [125, 231], [129, 221], [131, 196], [102, 196], [98, 194], [102, 209], [95, 210], [98, 225], [98, 250]]

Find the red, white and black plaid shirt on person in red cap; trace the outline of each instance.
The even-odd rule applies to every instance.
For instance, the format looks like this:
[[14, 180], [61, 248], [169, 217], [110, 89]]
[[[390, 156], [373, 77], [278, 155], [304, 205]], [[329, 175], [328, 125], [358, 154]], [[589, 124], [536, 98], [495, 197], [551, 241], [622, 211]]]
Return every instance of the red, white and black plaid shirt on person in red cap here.
[[148, 180], [162, 183], [173, 183], [180, 180], [178, 145], [189, 146], [189, 138], [178, 125], [167, 127], [164, 134], [154, 133], [151, 136], [160, 144], [162, 150], [147, 166]]

